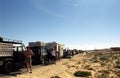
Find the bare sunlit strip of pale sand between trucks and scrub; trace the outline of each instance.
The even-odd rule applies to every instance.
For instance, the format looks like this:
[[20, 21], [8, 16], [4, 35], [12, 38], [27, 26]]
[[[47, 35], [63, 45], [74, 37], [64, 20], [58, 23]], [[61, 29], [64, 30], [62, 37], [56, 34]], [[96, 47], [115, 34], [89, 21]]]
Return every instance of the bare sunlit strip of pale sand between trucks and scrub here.
[[26, 73], [25, 70], [22, 75], [10, 78], [50, 78], [52, 76], [60, 76], [62, 78], [73, 78], [72, 75], [66, 72], [67, 66], [64, 63], [68, 62], [69, 59], [62, 59], [56, 64], [40, 66], [39, 68], [33, 69], [32, 73]]

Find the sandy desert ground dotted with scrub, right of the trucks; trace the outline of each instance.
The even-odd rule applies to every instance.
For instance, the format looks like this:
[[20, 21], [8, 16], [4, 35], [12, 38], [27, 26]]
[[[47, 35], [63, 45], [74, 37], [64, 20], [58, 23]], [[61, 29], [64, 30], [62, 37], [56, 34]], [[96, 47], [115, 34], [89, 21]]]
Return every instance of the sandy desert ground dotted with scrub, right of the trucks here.
[[[75, 77], [76, 71], [91, 72], [88, 77]], [[25, 70], [9, 78], [120, 78], [120, 52], [90, 52], [71, 59], [61, 59], [56, 64], [40, 66], [33, 73]]]

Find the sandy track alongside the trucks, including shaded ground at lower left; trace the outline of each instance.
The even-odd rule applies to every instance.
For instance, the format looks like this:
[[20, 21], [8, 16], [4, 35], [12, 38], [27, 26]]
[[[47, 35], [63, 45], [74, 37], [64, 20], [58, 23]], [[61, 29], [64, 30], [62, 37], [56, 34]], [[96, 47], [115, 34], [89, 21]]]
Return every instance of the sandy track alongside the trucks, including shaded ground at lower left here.
[[[0, 78], [50, 78], [52, 76], [64, 75], [67, 74], [65, 72], [66, 66], [64, 63], [69, 61], [69, 59], [61, 59], [56, 64], [46, 65], [46, 66], [33, 66], [33, 72], [28, 73], [26, 72], [25, 68], [13, 72], [10, 74], [2, 74]], [[63, 77], [62, 77], [63, 78]], [[71, 78], [69, 75], [65, 76], [65, 78]]]

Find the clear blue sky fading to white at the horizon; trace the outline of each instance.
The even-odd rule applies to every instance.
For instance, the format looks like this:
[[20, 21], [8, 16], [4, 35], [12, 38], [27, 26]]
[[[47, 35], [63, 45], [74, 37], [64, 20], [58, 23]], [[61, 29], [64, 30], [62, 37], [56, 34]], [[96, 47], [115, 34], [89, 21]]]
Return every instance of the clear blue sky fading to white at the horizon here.
[[120, 46], [120, 0], [0, 0], [0, 36], [65, 47]]

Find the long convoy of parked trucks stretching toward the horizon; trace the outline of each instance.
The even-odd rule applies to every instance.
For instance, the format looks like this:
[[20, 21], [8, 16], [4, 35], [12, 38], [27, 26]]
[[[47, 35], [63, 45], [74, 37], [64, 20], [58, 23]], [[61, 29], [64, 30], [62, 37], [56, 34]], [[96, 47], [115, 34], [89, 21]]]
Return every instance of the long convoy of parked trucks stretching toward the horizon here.
[[[32, 57], [33, 64], [45, 64], [47, 60], [43, 59], [42, 56], [45, 54], [46, 49], [54, 48], [59, 52], [59, 58], [70, 58], [71, 56], [83, 52], [82, 50], [69, 50], [64, 49], [63, 44], [56, 42], [44, 43], [41, 41], [29, 42], [28, 45], [34, 52]], [[20, 40], [5, 39], [0, 37], [0, 68], [5, 72], [9, 73], [14, 68], [21, 68], [25, 66], [24, 63], [24, 52], [25, 45]]]

